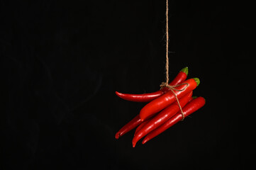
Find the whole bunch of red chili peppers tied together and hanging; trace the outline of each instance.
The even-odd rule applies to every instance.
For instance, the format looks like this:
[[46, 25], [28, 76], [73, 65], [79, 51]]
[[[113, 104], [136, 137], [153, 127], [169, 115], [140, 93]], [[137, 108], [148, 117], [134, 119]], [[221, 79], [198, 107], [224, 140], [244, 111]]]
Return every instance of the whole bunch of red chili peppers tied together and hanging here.
[[187, 79], [187, 74], [188, 67], [185, 67], [169, 83], [169, 86], [175, 86], [175, 90], [164, 87], [150, 94], [121, 94], [116, 91], [117, 96], [127, 101], [149, 102], [140, 110], [140, 114], [116, 132], [116, 139], [137, 127], [133, 137], [133, 147], [143, 137], [142, 143], [145, 144], [203, 107], [206, 103], [205, 99], [201, 96], [192, 96], [193, 90], [199, 86], [200, 81], [198, 78]]

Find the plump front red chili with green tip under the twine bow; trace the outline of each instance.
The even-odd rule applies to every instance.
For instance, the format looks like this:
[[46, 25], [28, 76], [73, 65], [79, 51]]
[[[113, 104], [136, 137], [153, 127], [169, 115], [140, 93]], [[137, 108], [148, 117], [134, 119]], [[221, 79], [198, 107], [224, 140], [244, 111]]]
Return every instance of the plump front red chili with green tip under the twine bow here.
[[[185, 94], [189, 93], [190, 91], [196, 89], [196, 86], [198, 86], [200, 83], [198, 78], [193, 79], [187, 79], [186, 81], [183, 81], [183, 85], [177, 86], [175, 89], [182, 90], [186, 86], [187, 88], [183, 91], [173, 91], [174, 94], [176, 94], [177, 98], [181, 98]], [[154, 101], [151, 101], [147, 105], [145, 105], [140, 110], [140, 120], [144, 121], [145, 119], [149, 118], [152, 114], [157, 113], [159, 111], [162, 111], [162, 109], [166, 108], [170, 104], [172, 104], [174, 101], [176, 101], [176, 97], [173, 94], [172, 91], [168, 91], [166, 94], [156, 98]]]

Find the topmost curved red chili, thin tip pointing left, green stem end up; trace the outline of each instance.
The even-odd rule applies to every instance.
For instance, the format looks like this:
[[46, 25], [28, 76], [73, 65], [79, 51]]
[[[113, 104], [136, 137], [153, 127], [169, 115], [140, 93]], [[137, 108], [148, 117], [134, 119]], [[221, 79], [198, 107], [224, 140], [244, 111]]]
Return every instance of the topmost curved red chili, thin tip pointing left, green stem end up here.
[[[179, 71], [179, 74], [174, 78], [174, 80], [169, 84], [170, 86], [175, 86], [180, 84], [182, 81], [187, 79], [187, 74], [189, 73], [188, 67], [184, 67]], [[149, 102], [154, 100], [155, 98], [162, 96], [165, 94], [169, 89], [167, 87], [161, 89], [160, 91], [155, 91], [150, 94], [121, 94], [116, 91], [116, 95], [120, 98], [125, 99], [126, 101], [135, 101], [135, 102]]]

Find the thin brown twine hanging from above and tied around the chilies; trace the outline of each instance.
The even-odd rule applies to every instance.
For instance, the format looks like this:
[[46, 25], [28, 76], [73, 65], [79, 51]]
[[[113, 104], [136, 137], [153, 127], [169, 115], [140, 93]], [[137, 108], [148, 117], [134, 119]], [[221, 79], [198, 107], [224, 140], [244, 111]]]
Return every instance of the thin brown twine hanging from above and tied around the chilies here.
[[189, 84], [184, 83], [187, 86], [184, 86], [184, 88], [182, 88], [182, 89], [176, 89], [177, 86], [182, 86], [184, 84], [178, 84], [178, 85], [175, 85], [175, 86], [170, 86], [169, 83], [168, 83], [169, 82], [169, 56], [168, 56], [169, 55], [169, 50], [168, 50], [168, 47], [169, 47], [169, 27], [168, 27], [168, 11], [169, 11], [168, 0], [166, 0], [166, 62], [165, 62], [166, 81], [162, 82], [160, 87], [161, 87], [161, 89], [164, 88], [164, 87], [167, 87], [170, 91], [172, 91], [172, 93], [174, 94], [174, 96], [175, 96], [175, 98], [177, 100], [177, 103], [178, 103], [178, 106], [179, 106], [179, 110], [182, 113], [182, 120], [184, 120], [185, 116], [184, 116], [184, 113], [182, 111], [182, 106], [180, 106], [179, 99], [178, 99], [177, 95], [174, 93], [174, 91], [184, 91], [185, 89], [187, 89], [187, 86], [189, 86]]

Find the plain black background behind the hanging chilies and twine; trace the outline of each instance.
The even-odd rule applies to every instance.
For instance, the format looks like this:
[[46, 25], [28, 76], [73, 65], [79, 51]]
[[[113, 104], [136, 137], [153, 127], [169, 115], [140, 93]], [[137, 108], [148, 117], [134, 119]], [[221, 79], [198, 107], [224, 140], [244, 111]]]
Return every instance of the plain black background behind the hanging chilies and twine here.
[[255, 169], [251, 4], [169, 1], [169, 77], [206, 106], [145, 145], [115, 133], [165, 81], [165, 1], [1, 1], [1, 169]]

